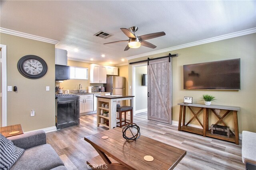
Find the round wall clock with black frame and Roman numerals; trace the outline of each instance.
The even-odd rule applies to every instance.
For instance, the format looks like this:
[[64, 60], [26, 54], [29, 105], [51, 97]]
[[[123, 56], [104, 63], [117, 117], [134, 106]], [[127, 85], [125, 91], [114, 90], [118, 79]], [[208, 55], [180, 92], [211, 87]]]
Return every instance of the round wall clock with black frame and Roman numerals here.
[[18, 61], [18, 70], [26, 78], [37, 79], [47, 72], [47, 64], [36, 55], [26, 55]]

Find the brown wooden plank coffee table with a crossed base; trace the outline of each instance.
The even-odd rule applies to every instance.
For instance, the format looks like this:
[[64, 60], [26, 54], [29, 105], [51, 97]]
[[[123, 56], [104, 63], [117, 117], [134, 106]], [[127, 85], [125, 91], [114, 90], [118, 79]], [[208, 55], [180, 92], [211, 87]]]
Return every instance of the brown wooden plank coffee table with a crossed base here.
[[[108, 139], [102, 139], [102, 136], [108, 136]], [[167, 170], [173, 169], [186, 155], [186, 150], [142, 135], [136, 141], [128, 143], [122, 137], [122, 129], [119, 127], [84, 137], [84, 140], [99, 153], [87, 160], [87, 164], [93, 169]], [[153, 156], [154, 160], [147, 162], [144, 160], [146, 155]]]

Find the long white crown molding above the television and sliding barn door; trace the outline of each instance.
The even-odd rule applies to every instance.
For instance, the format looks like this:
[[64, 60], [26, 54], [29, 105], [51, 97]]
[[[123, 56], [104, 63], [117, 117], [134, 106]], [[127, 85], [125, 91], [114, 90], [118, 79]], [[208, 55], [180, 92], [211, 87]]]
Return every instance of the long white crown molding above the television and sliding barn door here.
[[238, 32], [234, 32], [234, 33], [225, 34], [225, 35], [220, 35], [218, 37], [212, 37], [212, 38], [208, 38], [208, 39], [203, 39], [203, 40], [195, 41], [195, 42], [192, 42], [192, 43], [187, 43], [187, 44], [183, 44], [183, 45], [177, 45], [175, 47], [170, 47], [170, 48], [166, 48], [166, 49], [152, 51], [152, 52], [149, 52], [149, 53], [144, 53], [144, 54], [140, 54], [140, 55], [134, 55], [134, 56], [131, 56], [131, 57], [126, 57], [125, 59], [128, 59], [128, 60], [137, 59], [137, 58], [140, 58], [140, 57], [145, 57], [145, 56], [159, 54], [159, 53], [165, 53], [165, 52], [169, 52], [169, 51], [173, 51], [173, 50], [177, 50], [177, 49], [183, 49], [183, 48], [192, 47], [192, 46], [196, 46], [196, 45], [212, 43], [212, 42], [220, 41], [220, 40], [224, 40], [224, 39], [240, 37], [240, 36], [248, 35], [248, 34], [251, 34], [251, 33], [256, 33], [256, 27], [250, 28], [250, 29], [245, 29], [243, 31], [238, 31]]

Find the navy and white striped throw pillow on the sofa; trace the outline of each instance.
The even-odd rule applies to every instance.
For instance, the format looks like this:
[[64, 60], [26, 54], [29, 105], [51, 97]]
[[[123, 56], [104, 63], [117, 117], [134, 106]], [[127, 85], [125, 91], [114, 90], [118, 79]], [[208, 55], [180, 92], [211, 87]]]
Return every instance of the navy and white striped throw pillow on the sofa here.
[[8, 170], [20, 158], [24, 149], [13, 145], [12, 141], [0, 133], [0, 169]]

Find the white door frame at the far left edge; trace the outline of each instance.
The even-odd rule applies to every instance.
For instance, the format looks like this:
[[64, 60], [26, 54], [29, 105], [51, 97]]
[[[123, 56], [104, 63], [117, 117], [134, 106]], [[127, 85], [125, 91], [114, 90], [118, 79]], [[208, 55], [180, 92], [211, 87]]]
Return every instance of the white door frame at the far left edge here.
[[7, 126], [7, 46], [0, 44], [1, 49], [1, 87], [2, 87], [2, 108], [1, 108], [1, 126]]

